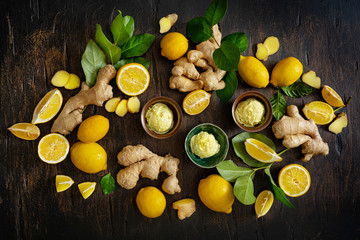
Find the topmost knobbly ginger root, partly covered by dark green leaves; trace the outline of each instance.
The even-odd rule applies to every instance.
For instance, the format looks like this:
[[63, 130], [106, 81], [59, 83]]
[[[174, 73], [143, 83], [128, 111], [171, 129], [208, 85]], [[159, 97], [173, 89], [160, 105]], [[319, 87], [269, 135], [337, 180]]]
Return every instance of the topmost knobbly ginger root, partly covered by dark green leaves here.
[[[196, 45], [196, 50], [188, 52], [187, 57], [182, 57], [174, 63], [169, 79], [171, 89], [180, 92], [191, 92], [198, 89], [205, 91], [219, 90], [225, 87], [222, 78], [226, 71], [215, 65], [212, 57], [214, 51], [221, 43], [221, 32], [218, 25], [213, 26], [213, 37]], [[199, 73], [196, 67], [204, 70]]]

